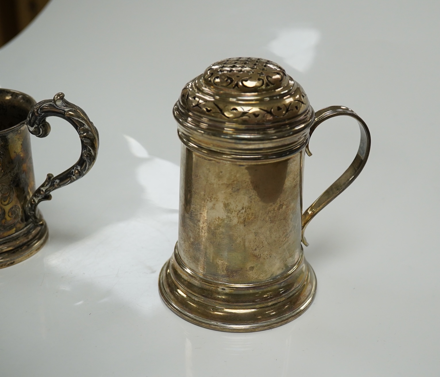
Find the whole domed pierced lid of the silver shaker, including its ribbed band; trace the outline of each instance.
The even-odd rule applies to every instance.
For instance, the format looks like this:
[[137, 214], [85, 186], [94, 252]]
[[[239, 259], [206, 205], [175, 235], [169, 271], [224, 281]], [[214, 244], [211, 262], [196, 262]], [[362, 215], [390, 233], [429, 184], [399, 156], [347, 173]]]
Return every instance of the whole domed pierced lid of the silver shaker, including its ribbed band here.
[[231, 58], [190, 81], [174, 106], [179, 137], [221, 160], [284, 158], [304, 148], [315, 114], [303, 88], [278, 64]]

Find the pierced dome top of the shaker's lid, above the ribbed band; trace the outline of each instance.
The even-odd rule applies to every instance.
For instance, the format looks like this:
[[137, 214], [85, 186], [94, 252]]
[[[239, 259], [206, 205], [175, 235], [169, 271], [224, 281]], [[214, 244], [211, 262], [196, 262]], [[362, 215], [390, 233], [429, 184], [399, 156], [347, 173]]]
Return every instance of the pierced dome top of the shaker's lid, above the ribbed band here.
[[[231, 124], [290, 123], [309, 109], [307, 95], [278, 64], [232, 58], [209, 66], [182, 90], [183, 117]], [[202, 121], [202, 120], [201, 120]]]

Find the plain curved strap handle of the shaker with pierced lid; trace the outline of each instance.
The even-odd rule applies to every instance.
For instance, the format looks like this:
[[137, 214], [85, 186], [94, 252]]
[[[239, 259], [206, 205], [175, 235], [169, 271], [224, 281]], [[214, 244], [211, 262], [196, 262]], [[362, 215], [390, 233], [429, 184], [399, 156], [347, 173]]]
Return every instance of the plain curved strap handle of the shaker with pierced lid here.
[[[368, 154], [370, 154], [370, 131], [368, 130], [367, 124], [356, 114], [353, 110], [348, 109], [348, 107], [344, 106], [329, 106], [324, 109], [321, 109], [315, 113], [315, 121], [310, 128], [310, 136], [313, 131], [315, 131], [316, 127], [319, 126], [323, 121], [327, 119], [337, 117], [338, 115], [348, 115], [349, 117], [353, 117], [358, 121], [360, 128], [360, 144], [359, 149], [356, 154], [355, 159], [352, 164], [348, 167], [347, 170], [338, 178], [336, 181], [321, 194], [321, 196], [316, 199], [308, 209], [301, 216], [302, 223], [302, 231], [301, 231], [301, 241], [304, 245], [308, 246], [307, 240], [304, 237], [304, 231], [307, 227], [307, 224], [310, 220], [315, 217], [315, 215], [323, 209], [327, 204], [330, 203], [334, 198], [336, 198], [342, 191], [344, 191], [354, 180], [359, 173], [362, 171], [365, 163], [367, 162]], [[307, 146], [305, 150], [309, 156], [312, 156]]]

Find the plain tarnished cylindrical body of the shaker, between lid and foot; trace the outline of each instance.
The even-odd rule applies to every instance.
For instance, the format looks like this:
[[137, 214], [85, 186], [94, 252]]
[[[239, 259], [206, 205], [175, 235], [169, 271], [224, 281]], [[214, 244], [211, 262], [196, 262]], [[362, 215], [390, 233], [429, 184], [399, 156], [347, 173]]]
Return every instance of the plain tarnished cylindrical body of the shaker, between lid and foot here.
[[264, 282], [301, 255], [301, 161], [243, 165], [182, 147], [179, 241], [183, 263], [214, 281]]

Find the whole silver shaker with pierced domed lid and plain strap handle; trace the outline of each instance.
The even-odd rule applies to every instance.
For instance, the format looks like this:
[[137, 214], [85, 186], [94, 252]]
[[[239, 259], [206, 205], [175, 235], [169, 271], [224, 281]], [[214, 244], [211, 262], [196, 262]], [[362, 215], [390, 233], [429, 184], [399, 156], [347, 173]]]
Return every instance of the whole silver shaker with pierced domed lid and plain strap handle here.
[[[359, 122], [358, 153], [302, 214], [310, 135], [337, 115]], [[159, 276], [165, 304], [199, 326], [233, 332], [301, 315], [316, 292], [304, 229], [362, 170], [367, 125], [342, 106], [315, 114], [282, 67], [256, 58], [209, 66], [183, 88], [174, 116], [183, 142], [179, 237]]]

